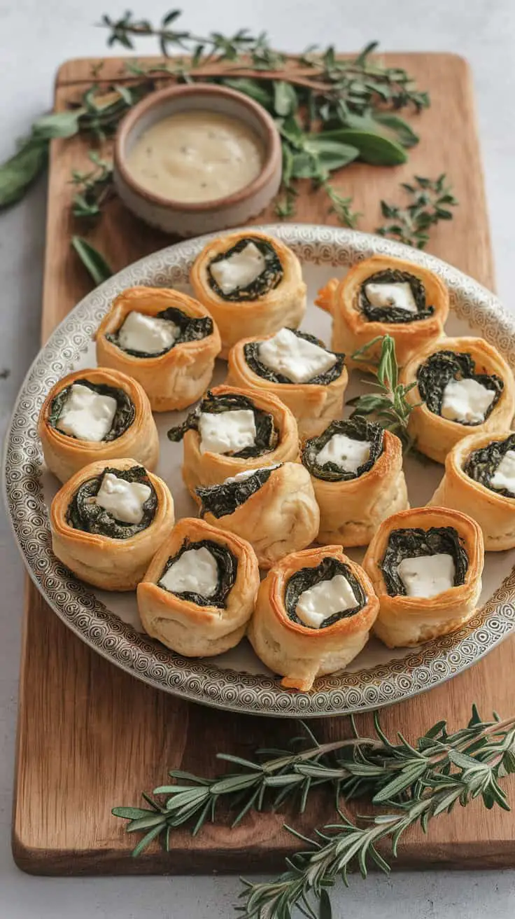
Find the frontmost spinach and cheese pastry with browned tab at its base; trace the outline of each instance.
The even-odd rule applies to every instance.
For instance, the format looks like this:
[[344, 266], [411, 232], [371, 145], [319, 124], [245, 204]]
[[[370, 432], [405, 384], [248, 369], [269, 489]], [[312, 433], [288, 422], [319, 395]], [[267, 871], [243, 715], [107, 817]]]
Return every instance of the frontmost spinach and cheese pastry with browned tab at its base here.
[[292, 552], [262, 581], [249, 639], [283, 686], [308, 692], [362, 651], [378, 610], [368, 575], [341, 546]]

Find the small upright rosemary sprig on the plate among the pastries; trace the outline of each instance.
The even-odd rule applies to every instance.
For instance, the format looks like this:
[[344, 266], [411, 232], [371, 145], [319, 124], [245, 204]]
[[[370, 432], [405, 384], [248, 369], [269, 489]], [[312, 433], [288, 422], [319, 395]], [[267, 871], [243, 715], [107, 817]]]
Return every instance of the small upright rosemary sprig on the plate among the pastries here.
[[[381, 342], [381, 351], [378, 359], [375, 360], [379, 342]], [[356, 414], [373, 415], [386, 430], [397, 434], [405, 448], [411, 448], [413, 441], [409, 437], [408, 421], [414, 405], [408, 402], [406, 395], [416, 386], [416, 383], [404, 386], [403, 383], [398, 382], [394, 339], [391, 335], [377, 335], [372, 341], [354, 352], [353, 360], [363, 362], [367, 369], [374, 367], [375, 380], [371, 385], [375, 391], [366, 392], [364, 395], [355, 396], [354, 399], [349, 400], [347, 404], [353, 405], [351, 417]]]

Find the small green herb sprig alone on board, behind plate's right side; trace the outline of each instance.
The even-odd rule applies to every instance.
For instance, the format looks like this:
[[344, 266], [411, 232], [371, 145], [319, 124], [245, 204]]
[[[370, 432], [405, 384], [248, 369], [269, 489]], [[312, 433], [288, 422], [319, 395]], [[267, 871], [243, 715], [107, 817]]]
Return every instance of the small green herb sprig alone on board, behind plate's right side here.
[[403, 182], [401, 188], [408, 192], [410, 204], [402, 208], [381, 201], [381, 212], [389, 223], [377, 227], [375, 233], [397, 239], [399, 243], [423, 249], [429, 241], [429, 229], [438, 221], [452, 221], [458, 201], [446, 176], [437, 179], [414, 176], [413, 184]]

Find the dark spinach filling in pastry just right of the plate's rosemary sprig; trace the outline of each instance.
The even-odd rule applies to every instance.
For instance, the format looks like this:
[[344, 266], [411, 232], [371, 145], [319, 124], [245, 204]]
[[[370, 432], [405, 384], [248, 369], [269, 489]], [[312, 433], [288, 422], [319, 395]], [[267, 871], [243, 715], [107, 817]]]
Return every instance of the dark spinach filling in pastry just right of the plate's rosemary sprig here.
[[[475, 373], [476, 363], [470, 354], [454, 351], [436, 351], [420, 366], [417, 371], [420, 397], [430, 412], [442, 414], [443, 390], [450, 380], [476, 380], [495, 395], [488, 406], [485, 419], [498, 403], [504, 389], [504, 382], [496, 373]], [[460, 425], [474, 426], [482, 424], [476, 421], [460, 421]]]

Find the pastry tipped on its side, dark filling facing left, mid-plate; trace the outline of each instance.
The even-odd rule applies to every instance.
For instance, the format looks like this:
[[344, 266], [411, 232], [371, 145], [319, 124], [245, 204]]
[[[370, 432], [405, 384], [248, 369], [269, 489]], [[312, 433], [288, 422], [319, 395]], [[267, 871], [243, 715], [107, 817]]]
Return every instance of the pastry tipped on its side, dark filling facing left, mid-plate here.
[[305, 549], [319, 532], [319, 505], [300, 463], [238, 472], [219, 485], [197, 488], [196, 494], [207, 523], [247, 539], [261, 568]]

